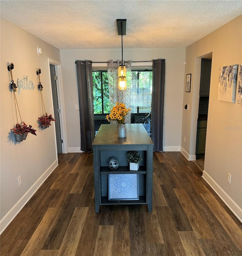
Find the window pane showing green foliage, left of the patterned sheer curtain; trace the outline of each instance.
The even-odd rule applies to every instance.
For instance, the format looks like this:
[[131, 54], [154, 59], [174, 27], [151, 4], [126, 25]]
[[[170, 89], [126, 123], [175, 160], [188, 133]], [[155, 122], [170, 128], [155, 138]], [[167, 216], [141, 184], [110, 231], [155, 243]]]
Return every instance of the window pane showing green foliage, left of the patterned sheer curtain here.
[[108, 73], [93, 71], [92, 77], [94, 114], [108, 114], [110, 112]]

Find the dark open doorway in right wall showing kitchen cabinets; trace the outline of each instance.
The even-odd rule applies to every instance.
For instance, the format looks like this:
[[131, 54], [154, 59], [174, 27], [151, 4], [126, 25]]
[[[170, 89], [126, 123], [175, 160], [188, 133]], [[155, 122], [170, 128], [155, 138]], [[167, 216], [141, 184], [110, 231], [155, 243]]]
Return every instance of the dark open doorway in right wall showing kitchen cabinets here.
[[207, 130], [207, 120], [208, 120], [211, 65], [212, 65], [212, 55], [202, 56], [195, 155], [197, 160], [203, 162], [203, 167], [204, 167], [205, 146], [206, 146], [206, 130]]

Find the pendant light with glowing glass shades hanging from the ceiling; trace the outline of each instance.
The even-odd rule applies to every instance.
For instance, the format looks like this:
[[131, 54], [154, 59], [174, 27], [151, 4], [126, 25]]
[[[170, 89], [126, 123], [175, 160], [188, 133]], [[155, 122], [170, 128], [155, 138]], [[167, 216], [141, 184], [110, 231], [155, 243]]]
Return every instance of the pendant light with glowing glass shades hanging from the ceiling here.
[[122, 36], [122, 65], [118, 67], [118, 88], [127, 89], [126, 67], [123, 65], [123, 35], [126, 35], [126, 19], [117, 19], [118, 35]]

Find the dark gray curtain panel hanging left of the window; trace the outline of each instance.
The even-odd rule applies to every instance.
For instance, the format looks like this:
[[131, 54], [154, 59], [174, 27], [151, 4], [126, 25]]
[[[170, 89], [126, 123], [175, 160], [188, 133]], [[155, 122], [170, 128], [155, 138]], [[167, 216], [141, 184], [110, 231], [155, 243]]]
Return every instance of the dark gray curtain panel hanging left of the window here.
[[92, 142], [95, 138], [92, 61], [76, 61], [76, 70], [79, 92], [81, 150], [86, 152], [92, 151]]

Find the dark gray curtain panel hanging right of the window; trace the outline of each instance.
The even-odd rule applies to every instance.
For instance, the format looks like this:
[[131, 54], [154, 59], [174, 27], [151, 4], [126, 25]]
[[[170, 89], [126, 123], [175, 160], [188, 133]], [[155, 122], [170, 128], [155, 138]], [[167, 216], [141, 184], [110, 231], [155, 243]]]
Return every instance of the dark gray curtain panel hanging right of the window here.
[[151, 138], [154, 151], [163, 151], [165, 60], [153, 60]]

